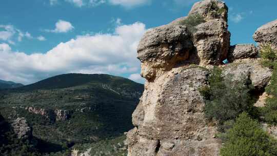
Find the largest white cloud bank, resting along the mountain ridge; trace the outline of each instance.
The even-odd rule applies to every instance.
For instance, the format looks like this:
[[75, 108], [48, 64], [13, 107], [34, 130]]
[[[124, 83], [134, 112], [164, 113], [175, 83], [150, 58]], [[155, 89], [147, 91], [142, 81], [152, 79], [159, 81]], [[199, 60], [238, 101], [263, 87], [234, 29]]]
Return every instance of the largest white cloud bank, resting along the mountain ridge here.
[[46, 53], [26, 54], [2, 43], [0, 79], [29, 84], [62, 73], [138, 73], [136, 47], [145, 31], [143, 23], [117, 26], [112, 34], [76, 36]]

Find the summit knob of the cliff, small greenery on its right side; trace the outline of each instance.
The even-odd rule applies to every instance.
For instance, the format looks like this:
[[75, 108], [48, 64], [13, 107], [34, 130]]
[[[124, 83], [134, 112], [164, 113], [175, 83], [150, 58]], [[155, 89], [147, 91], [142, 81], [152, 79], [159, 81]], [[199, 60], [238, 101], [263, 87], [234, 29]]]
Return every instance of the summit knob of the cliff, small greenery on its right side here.
[[222, 18], [227, 22], [228, 7], [222, 1], [204, 0], [195, 3], [189, 12], [189, 15], [199, 13], [206, 21], [215, 18]]

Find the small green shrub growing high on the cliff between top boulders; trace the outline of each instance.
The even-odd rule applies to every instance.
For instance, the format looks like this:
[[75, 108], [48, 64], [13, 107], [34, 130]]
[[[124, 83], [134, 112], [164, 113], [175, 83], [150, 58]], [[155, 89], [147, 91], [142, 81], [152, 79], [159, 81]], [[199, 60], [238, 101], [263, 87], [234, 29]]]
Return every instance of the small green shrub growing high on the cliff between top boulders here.
[[205, 22], [204, 17], [199, 13], [195, 13], [187, 16], [186, 19], [180, 22], [180, 25], [186, 25], [190, 32], [195, 32], [196, 31], [195, 26], [204, 22]]

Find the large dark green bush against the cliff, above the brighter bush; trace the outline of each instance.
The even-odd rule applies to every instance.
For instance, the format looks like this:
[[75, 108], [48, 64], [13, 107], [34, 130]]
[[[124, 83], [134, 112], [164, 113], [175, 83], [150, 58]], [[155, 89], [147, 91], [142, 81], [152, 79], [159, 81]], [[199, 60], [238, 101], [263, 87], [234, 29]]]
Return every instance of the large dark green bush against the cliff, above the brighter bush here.
[[220, 68], [215, 67], [209, 76], [210, 87], [200, 88], [206, 99], [205, 115], [215, 119], [222, 125], [225, 121], [235, 119], [240, 113], [247, 111], [253, 114], [253, 88], [249, 80], [232, 81], [232, 75], [222, 76]]

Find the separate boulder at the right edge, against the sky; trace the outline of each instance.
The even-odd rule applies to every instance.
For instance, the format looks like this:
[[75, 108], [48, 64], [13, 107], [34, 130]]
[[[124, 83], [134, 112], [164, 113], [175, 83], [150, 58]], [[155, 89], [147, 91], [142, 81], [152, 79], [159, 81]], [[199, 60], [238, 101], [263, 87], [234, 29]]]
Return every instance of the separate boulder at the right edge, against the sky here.
[[277, 49], [277, 19], [258, 28], [253, 38], [259, 45], [270, 43], [272, 48]]

